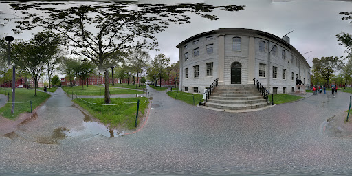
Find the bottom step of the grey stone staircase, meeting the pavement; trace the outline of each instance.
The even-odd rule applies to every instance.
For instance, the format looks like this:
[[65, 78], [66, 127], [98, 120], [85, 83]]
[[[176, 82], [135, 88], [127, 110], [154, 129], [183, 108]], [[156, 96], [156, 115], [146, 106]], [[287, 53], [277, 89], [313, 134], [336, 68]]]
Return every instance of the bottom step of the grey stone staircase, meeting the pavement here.
[[259, 102], [254, 104], [220, 104], [215, 102], [206, 102], [206, 107], [213, 107], [217, 109], [243, 110], [266, 107], [269, 103], [270, 102]]

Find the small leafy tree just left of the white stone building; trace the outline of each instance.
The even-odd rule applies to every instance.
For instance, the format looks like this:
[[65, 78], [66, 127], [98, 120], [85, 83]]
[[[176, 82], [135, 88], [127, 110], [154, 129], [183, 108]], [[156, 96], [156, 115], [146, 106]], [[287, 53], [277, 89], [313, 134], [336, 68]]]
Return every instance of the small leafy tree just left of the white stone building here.
[[152, 67], [155, 69], [157, 77], [160, 80], [160, 87], [162, 87], [162, 78], [164, 80], [168, 79], [166, 68], [170, 65], [170, 61], [170, 58], [166, 58], [165, 54], [157, 54], [152, 62]]

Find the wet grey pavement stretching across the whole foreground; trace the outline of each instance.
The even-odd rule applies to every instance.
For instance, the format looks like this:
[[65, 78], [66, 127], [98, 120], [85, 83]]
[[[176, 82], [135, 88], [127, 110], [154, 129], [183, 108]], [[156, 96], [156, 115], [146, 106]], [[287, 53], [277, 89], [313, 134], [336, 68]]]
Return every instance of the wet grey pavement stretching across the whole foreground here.
[[0, 137], [0, 175], [351, 175], [352, 140], [324, 133], [351, 94], [319, 94], [261, 111], [226, 113], [150, 91], [144, 129], [104, 137], [58, 89], [38, 117]]

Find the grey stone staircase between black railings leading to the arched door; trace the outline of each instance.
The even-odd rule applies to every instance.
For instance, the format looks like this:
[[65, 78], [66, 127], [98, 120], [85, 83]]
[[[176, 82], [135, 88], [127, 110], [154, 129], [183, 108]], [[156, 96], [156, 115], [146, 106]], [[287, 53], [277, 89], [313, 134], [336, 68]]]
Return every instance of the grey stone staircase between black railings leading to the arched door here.
[[254, 85], [218, 86], [206, 102], [206, 107], [217, 109], [243, 110], [266, 107], [266, 102]]

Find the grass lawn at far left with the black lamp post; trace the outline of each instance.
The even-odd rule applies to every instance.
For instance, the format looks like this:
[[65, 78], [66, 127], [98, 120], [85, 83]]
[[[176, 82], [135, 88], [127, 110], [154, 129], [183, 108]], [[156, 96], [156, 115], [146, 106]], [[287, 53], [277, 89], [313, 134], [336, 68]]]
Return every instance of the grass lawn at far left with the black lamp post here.
[[[1, 94], [8, 95], [10, 93], [10, 100], [8, 102], [12, 102], [12, 89], [1, 89]], [[33, 89], [16, 89], [16, 99], [15, 102], [23, 102], [14, 104], [14, 114], [11, 114], [11, 105], [12, 103], [7, 103], [5, 107], [0, 109], [0, 115], [5, 118], [14, 120], [21, 113], [28, 112], [30, 113], [30, 101], [32, 100], [32, 109], [38, 107], [42, 102], [44, 102], [47, 98], [50, 97], [50, 94], [36, 91], [36, 96], [34, 96]]]

